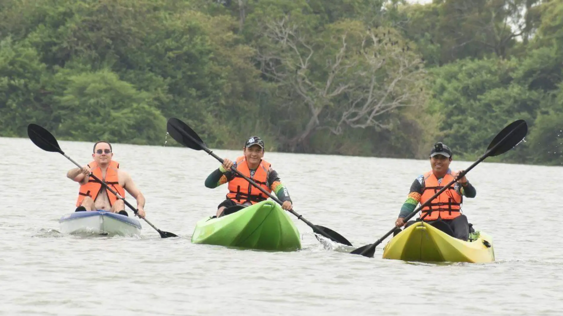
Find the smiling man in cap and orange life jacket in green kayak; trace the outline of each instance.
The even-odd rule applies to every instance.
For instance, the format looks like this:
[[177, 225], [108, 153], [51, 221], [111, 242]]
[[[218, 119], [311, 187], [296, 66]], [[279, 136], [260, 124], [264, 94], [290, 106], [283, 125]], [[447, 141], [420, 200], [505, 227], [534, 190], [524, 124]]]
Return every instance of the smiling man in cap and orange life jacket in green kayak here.
[[217, 206], [217, 217], [224, 215], [223, 212], [227, 207], [248, 206], [268, 198], [262, 191], [231, 170], [233, 166], [265, 189], [266, 192], [271, 193], [273, 191], [283, 202], [282, 208], [291, 210], [293, 206], [287, 188], [282, 184], [278, 173], [271, 168], [271, 164], [262, 159], [264, 156], [262, 139], [258, 136], [249, 138], [244, 143], [243, 154], [235, 162], [225, 159], [223, 164], [205, 179], [205, 187], [211, 189], [229, 183], [229, 193], [227, 193], [226, 200]]

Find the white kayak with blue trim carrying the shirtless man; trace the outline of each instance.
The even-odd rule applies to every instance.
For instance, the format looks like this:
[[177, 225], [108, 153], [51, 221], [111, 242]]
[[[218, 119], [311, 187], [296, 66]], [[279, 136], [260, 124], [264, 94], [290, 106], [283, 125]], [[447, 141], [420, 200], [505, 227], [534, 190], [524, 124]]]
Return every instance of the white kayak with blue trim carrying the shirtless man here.
[[109, 211], [81, 211], [59, 219], [61, 233], [100, 234], [107, 236], [138, 236], [141, 223], [136, 218]]

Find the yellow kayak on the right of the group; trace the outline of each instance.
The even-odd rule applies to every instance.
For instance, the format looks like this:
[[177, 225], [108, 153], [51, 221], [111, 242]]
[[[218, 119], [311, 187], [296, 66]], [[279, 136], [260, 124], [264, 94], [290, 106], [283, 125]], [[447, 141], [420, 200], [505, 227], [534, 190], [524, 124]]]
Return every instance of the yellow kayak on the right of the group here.
[[468, 241], [446, 234], [425, 222], [405, 228], [385, 245], [383, 259], [405, 261], [469, 262], [494, 261], [493, 240], [479, 231]]

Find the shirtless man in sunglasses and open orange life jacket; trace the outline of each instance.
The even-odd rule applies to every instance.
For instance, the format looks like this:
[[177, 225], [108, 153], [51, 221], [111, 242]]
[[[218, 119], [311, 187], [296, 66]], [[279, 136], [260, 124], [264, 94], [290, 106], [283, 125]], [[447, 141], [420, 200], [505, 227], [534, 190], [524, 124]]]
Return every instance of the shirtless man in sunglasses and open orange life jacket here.
[[[113, 152], [111, 144], [99, 141], [94, 144], [92, 158], [94, 161], [81, 168], [70, 169], [66, 177], [80, 183], [78, 193], [77, 211], [106, 210], [112, 213], [127, 215], [123, 200], [118, 199], [113, 193], [105, 189], [93, 177], [88, 177], [92, 172], [103, 180], [113, 191], [125, 197], [125, 190], [137, 200], [137, 215], [145, 218], [145, 197], [135, 186], [128, 173], [119, 169], [117, 161], [111, 161]], [[127, 215], [128, 216], [128, 215]]]

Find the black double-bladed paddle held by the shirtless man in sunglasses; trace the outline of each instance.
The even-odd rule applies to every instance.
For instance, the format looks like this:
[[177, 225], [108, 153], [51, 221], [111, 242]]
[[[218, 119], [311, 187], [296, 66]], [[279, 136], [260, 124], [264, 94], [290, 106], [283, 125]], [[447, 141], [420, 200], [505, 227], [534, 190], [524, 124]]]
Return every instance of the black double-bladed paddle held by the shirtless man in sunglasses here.
[[[59, 154], [65, 156], [66, 159], [72, 161], [73, 164], [78, 166], [78, 168], [82, 169], [81, 165], [79, 165], [76, 161], [72, 160], [72, 158], [67, 156], [61, 150], [61, 147], [59, 146], [57, 139], [48, 130], [42, 128], [41, 126], [39, 126], [37, 124], [29, 124], [28, 125], [28, 136], [29, 136], [29, 139], [31, 139], [32, 142], [35, 145], [37, 145], [37, 147], [41, 148], [44, 151], [58, 152]], [[90, 177], [94, 178], [97, 182], [101, 183], [102, 186], [104, 186], [106, 189], [108, 189], [108, 191], [110, 191], [115, 196], [117, 196], [117, 198], [119, 198], [120, 200], [123, 200], [123, 202], [127, 206], [129, 206], [129, 208], [132, 209], [133, 212], [135, 212], [135, 215], [137, 215], [137, 209], [135, 207], [133, 207], [133, 205], [129, 204], [129, 202], [127, 202], [124, 197], [120, 196], [119, 193], [113, 191], [113, 189], [111, 189], [108, 186], [108, 184], [106, 184], [104, 181], [100, 180], [100, 178], [96, 177], [93, 173], [90, 173]], [[178, 237], [176, 234], [161, 231], [160, 229], [155, 227], [153, 224], [151, 224], [146, 218], [143, 218], [143, 219], [145, 220], [145, 222], [147, 222], [152, 228], [154, 228], [160, 234], [160, 237], [162, 237], [162, 238]]]

